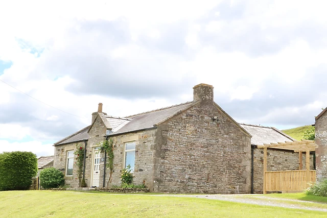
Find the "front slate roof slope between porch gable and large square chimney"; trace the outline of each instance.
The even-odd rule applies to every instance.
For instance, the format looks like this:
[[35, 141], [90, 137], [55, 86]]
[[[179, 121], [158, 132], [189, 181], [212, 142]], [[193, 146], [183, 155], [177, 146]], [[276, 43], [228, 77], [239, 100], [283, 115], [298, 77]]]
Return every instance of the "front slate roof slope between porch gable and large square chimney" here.
[[173, 105], [166, 108], [148, 111], [128, 116], [131, 120], [122, 126], [120, 129], [113, 130], [109, 135], [117, 135], [127, 132], [134, 132], [153, 128], [156, 124], [166, 120], [167, 118], [175, 115], [177, 112], [184, 110], [194, 104], [194, 102], [186, 102], [179, 105]]

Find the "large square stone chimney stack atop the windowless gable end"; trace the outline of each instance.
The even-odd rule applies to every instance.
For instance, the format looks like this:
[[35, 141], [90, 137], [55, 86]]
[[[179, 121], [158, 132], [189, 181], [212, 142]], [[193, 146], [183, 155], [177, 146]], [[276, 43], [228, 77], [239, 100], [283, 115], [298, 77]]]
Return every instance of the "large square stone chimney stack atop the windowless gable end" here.
[[214, 103], [214, 87], [201, 83], [193, 87], [193, 102], [201, 100], [201, 103]]

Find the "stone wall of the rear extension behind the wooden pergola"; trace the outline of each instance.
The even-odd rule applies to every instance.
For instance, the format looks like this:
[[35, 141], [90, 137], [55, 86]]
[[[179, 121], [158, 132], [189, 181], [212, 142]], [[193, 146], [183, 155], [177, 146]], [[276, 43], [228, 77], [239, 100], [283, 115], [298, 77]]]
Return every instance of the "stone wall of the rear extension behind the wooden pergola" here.
[[[289, 150], [267, 149], [267, 171], [295, 171], [299, 169], [299, 154]], [[263, 149], [253, 151], [253, 192], [263, 193]], [[306, 153], [302, 153], [302, 169], [306, 169]], [[313, 155], [310, 155], [313, 169]]]

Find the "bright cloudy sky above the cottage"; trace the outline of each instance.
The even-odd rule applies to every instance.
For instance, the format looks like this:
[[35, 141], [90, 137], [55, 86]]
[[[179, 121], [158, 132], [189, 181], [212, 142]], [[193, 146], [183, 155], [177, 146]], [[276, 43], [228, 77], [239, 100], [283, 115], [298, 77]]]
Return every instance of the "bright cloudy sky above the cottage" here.
[[192, 101], [199, 83], [213, 85], [215, 102], [240, 123], [312, 124], [327, 106], [326, 7], [2, 1], [0, 152], [51, 155], [99, 102], [126, 116]]

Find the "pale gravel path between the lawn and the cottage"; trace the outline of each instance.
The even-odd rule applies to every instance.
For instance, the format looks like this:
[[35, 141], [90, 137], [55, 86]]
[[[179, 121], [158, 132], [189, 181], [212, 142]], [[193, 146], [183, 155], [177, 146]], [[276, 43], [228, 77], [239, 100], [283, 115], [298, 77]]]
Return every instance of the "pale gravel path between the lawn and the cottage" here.
[[[319, 204], [323, 204], [323, 203], [310, 202], [313, 204], [313, 206], [308, 207], [305, 205], [296, 204], [297, 202], [307, 202], [307, 201], [269, 198], [263, 195], [155, 195], [155, 196], [204, 198], [204, 199], [231, 201], [231, 202], [246, 203], [246, 204], [256, 204], [256, 205], [264, 205], [264, 206], [285, 207], [285, 208], [305, 209], [305, 210], [317, 210], [317, 211], [327, 212], [327, 209], [314, 206], [314, 205], [319, 206]], [[290, 203], [286, 203], [285, 201], [289, 201]]]

